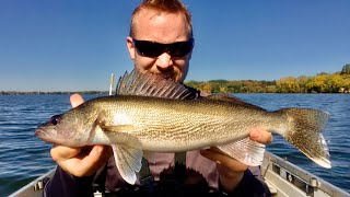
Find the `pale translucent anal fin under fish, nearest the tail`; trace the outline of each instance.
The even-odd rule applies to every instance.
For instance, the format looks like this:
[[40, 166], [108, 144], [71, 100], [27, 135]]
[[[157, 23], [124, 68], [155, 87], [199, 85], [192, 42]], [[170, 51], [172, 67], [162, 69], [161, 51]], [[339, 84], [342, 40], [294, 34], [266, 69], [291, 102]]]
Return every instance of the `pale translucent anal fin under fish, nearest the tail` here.
[[253, 141], [249, 138], [223, 144], [218, 148], [228, 155], [250, 166], [260, 165], [265, 152], [265, 144]]

